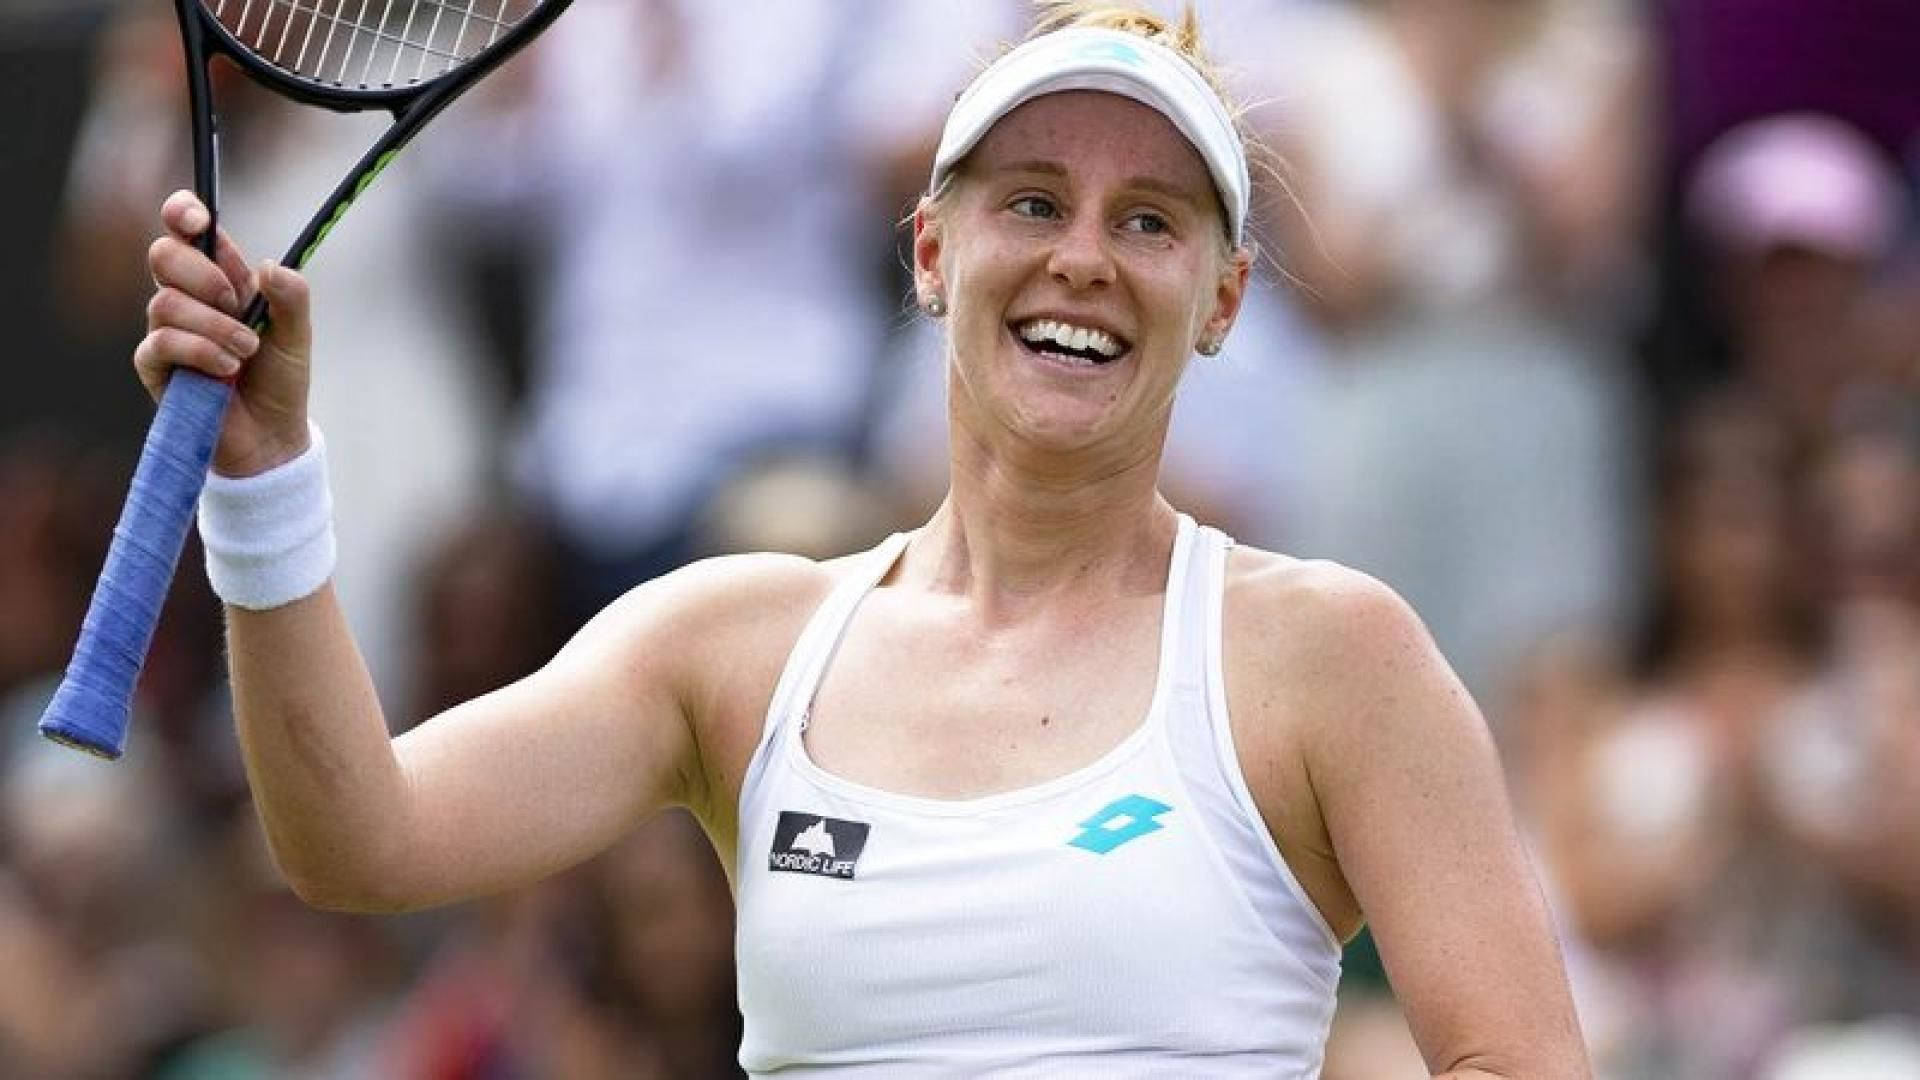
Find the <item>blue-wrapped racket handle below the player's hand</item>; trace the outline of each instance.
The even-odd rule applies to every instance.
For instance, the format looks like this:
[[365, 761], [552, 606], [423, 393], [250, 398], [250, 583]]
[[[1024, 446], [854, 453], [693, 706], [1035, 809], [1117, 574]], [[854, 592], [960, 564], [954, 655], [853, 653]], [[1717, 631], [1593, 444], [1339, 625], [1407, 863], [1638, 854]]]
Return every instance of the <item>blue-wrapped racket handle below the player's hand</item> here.
[[167, 380], [73, 661], [40, 717], [46, 738], [106, 759], [127, 746], [134, 682], [207, 482], [230, 396], [232, 386], [198, 371], [175, 369]]

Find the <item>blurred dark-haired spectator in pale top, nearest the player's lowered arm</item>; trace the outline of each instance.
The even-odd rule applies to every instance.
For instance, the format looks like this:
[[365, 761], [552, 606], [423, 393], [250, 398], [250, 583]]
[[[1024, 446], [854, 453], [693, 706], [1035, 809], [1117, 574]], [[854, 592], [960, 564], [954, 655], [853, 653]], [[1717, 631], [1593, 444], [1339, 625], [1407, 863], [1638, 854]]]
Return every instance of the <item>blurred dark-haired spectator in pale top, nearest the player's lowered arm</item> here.
[[[1624, 694], [1536, 730], [1534, 805], [1588, 942], [1603, 1074], [1736, 1076], [1791, 1015], [1799, 913], [1757, 761], [1818, 651], [1789, 440], [1751, 404], [1692, 413], [1663, 454], [1659, 590]], [[1567, 740], [1553, 746], [1555, 740]], [[1768, 880], [1764, 890], [1757, 882]], [[1624, 992], [1596, 999], [1609, 980]], [[1699, 1024], [1697, 1017], [1713, 1017]]]

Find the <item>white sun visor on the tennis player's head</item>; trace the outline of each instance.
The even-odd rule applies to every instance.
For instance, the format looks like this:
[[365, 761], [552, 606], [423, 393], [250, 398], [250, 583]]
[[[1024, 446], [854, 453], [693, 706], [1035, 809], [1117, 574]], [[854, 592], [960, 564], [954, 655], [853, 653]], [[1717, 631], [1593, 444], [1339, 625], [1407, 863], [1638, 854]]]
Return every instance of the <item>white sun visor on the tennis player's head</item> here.
[[1171, 48], [1125, 31], [1075, 27], [1041, 35], [979, 73], [960, 94], [941, 148], [933, 156], [933, 186], [954, 171], [987, 131], [1016, 108], [1043, 94], [1100, 90], [1133, 98], [1173, 121], [1213, 175], [1227, 208], [1227, 231], [1238, 244], [1246, 229], [1246, 150], [1233, 113], [1200, 71]]

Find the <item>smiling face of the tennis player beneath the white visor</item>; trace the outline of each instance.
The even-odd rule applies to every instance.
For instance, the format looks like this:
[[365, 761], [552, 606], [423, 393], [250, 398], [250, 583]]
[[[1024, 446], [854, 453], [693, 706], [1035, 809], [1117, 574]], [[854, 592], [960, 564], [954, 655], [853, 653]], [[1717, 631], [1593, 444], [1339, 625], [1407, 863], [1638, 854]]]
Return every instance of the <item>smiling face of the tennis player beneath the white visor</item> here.
[[1227, 332], [1248, 258], [1227, 254], [1200, 154], [1158, 111], [1035, 98], [914, 219], [922, 296], [950, 317], [952, 409], [1048, 450], [1158, 450], [1194, 346]]

